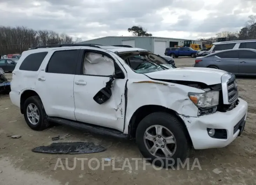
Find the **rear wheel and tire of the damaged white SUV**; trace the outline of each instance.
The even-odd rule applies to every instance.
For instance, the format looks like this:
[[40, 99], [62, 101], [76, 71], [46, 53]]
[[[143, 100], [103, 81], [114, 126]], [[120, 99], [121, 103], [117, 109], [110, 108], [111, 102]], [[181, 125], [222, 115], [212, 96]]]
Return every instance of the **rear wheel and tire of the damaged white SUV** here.
[[39, 96], [31, 96], [27, 98], [24, 102], [23, 110], [27, 125], [33, 130], [41, 131], [49, 127], [47, 114]]

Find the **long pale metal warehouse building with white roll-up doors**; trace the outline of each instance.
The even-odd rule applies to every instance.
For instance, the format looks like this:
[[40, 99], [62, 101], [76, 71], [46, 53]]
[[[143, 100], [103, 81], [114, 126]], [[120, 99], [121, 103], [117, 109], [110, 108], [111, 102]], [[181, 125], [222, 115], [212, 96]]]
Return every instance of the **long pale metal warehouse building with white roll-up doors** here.
[[[163, 55], [167, 47], [174, 47], [174, 45], [183, 45], [184, 40], [191, 39], [177, 39], [165, 37], [107, 36], [92, 40], [86, 40], [79, 44], [129, 45], [132, 47], [149, 50], [155, 54]], [[195, 44], [200, 44], [202, 47], [202, 41], [194, 41]]]

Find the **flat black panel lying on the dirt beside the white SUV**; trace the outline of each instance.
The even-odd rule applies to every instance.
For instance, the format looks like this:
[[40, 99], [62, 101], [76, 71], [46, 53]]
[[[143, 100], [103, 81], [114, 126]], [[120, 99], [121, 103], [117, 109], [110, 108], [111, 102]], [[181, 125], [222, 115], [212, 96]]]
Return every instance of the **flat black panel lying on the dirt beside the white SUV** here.
[[94, 145], [93, 142], [56, 142], [49, 146], [33, 148], [32, 151], [53, 154], [88, 154], [105, 151], [101, 145]]

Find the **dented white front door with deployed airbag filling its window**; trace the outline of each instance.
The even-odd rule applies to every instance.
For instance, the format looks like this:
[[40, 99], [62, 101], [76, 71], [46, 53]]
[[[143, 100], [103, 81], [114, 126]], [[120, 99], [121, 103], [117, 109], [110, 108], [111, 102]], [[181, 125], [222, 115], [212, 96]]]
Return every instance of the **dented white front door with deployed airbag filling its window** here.
[[86, 50], [80, 59], [81, 74], [74, 79], [76, 120], [123, 131], [126, 79], [113, 81], [112, 96], [105, 103], [93, 99], [115, 74], [114, 55]]

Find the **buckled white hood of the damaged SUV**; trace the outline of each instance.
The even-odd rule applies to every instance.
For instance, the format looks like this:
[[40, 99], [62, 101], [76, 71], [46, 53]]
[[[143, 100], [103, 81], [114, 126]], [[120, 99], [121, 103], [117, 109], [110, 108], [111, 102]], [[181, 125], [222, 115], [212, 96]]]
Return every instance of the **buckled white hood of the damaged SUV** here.
[[155, 71], [145, 75], [156, 80], [182, 80], [214, 85], [221, 83], [221, 76], [225, 73], [227, 72], [213, 68], [182, 67]]

